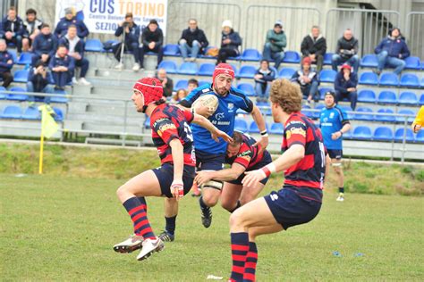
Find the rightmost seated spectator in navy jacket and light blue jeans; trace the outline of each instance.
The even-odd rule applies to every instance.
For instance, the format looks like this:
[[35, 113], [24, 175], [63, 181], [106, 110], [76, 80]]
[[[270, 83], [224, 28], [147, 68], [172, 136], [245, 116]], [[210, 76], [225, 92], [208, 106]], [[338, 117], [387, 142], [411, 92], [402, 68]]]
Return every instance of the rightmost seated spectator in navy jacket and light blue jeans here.
[[401, 30], [397, 28], [390, 30], [388, 37], [381, 40], [374, 52], [377, 54], [378, 75], [385, 67], [395, 68], [394, 73], [399, 75], [406, 65], [404, 60], [410, 56], [410, 50], [401, 35]]

